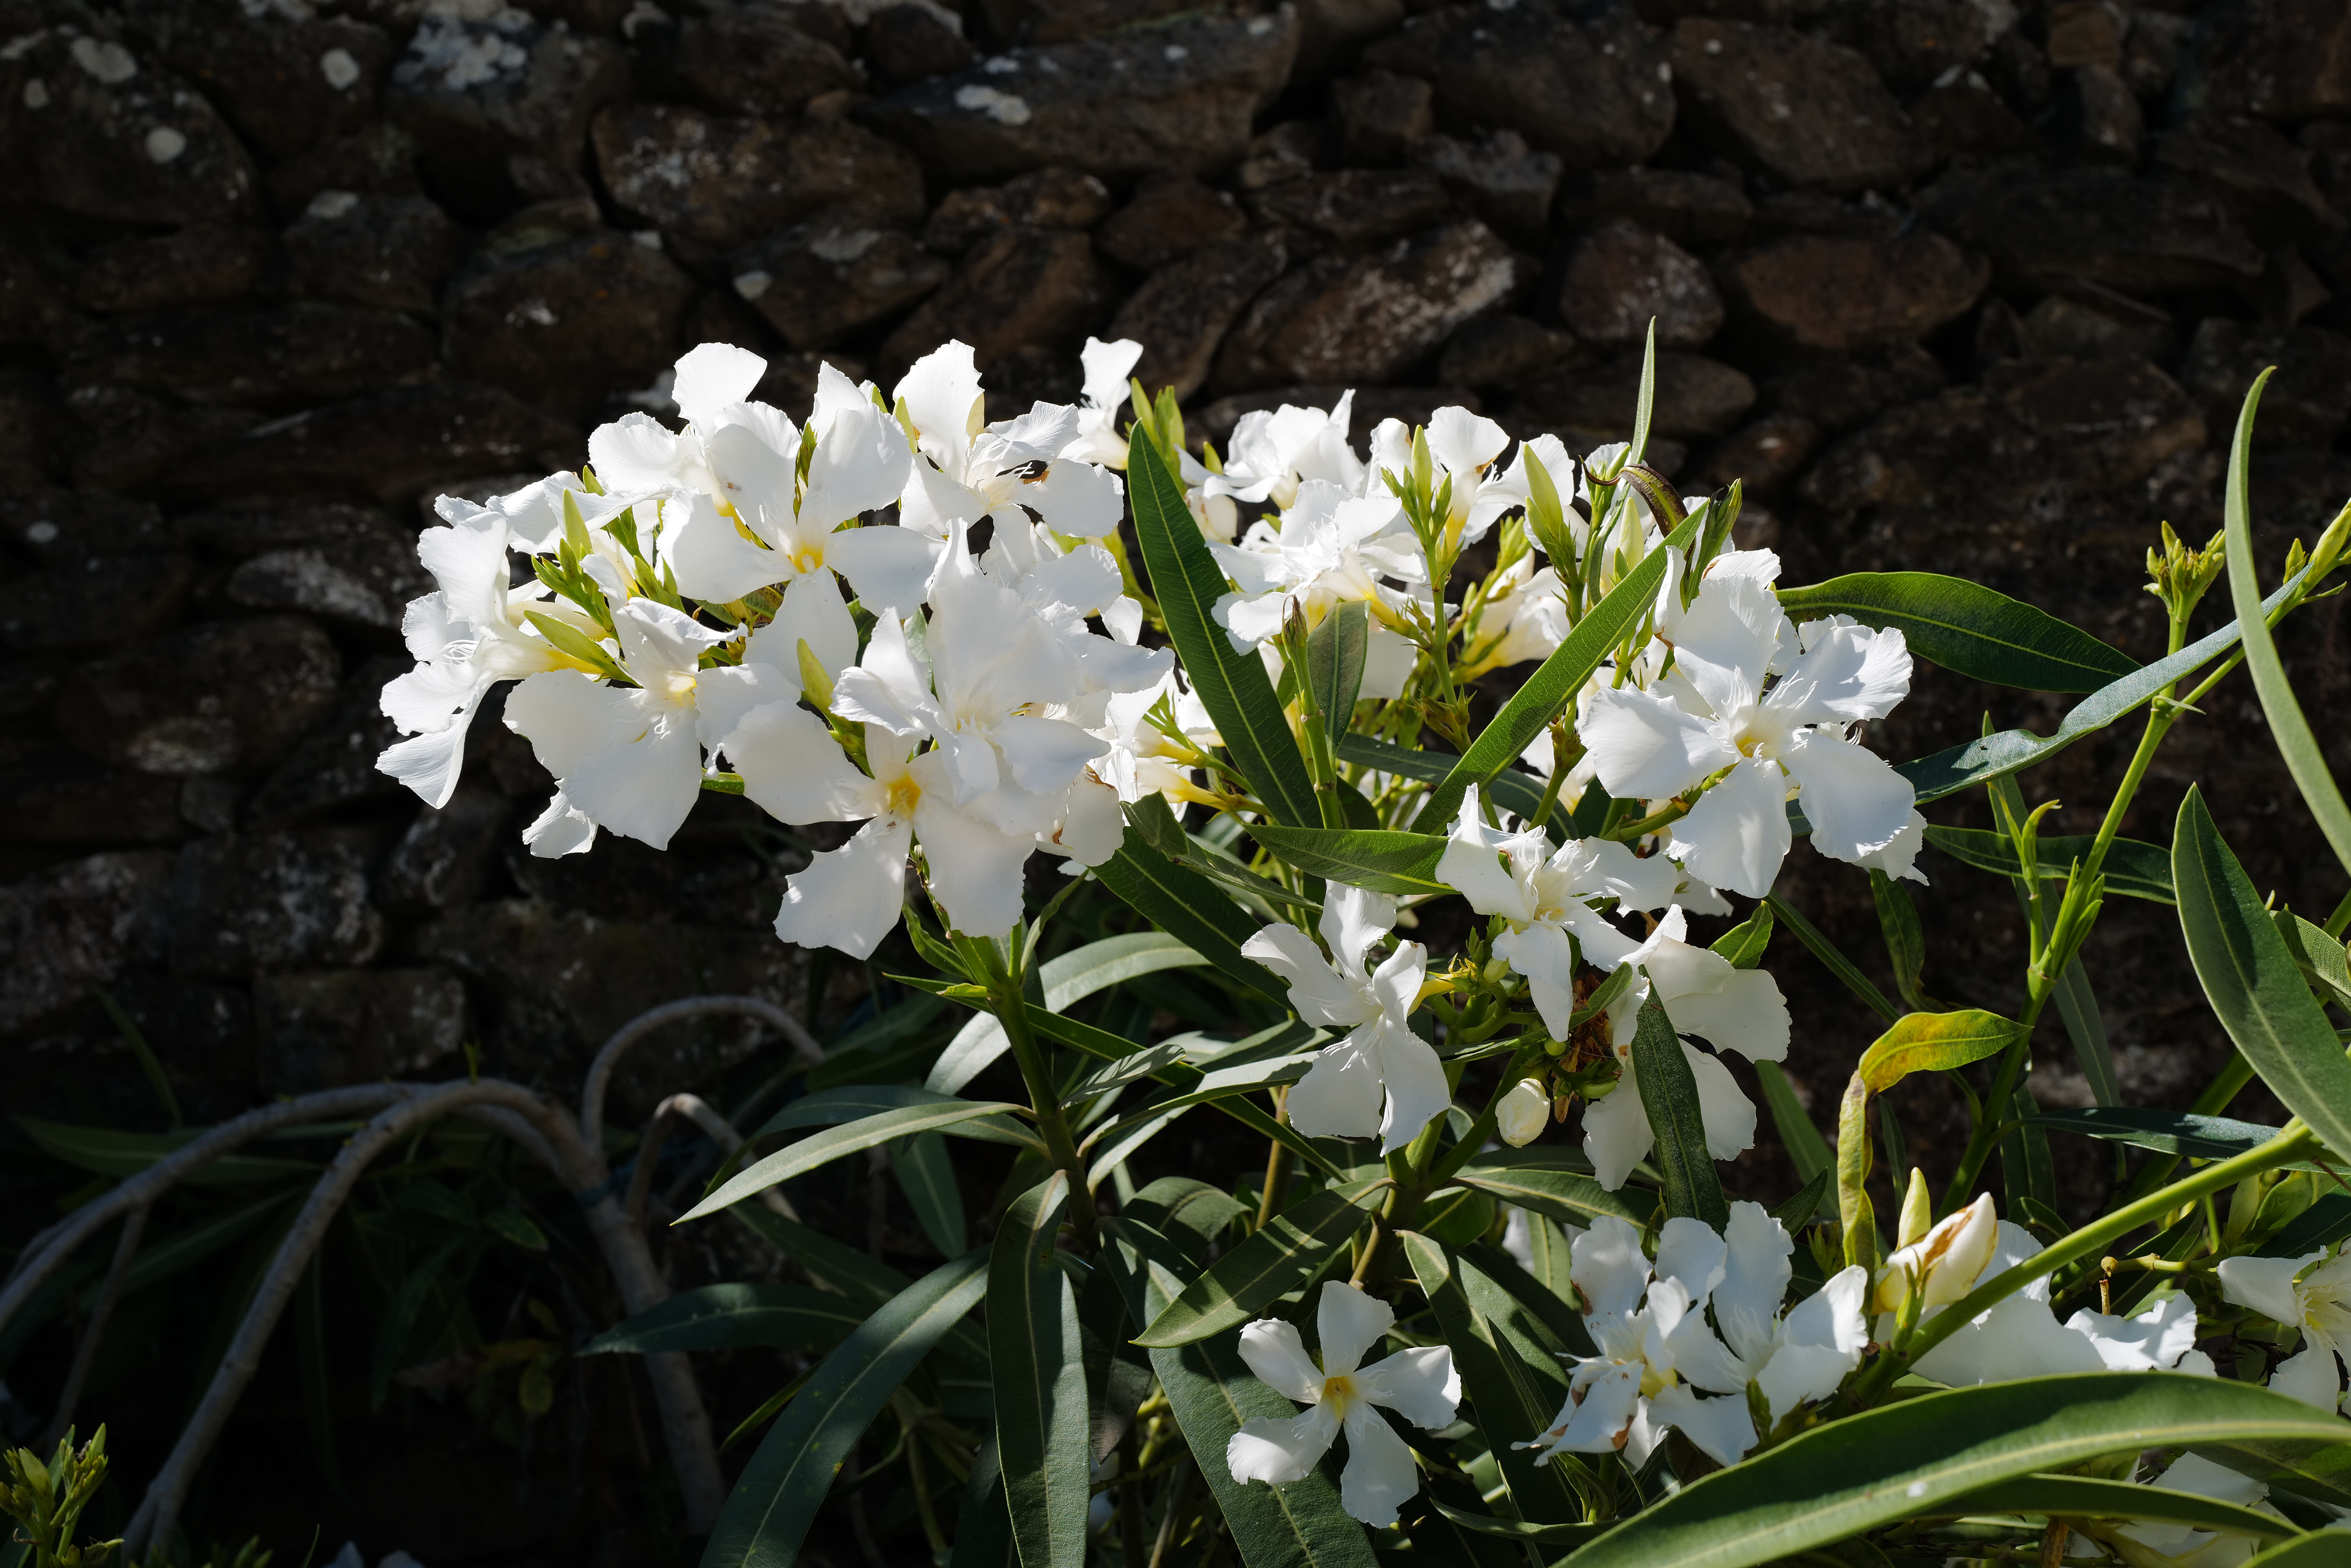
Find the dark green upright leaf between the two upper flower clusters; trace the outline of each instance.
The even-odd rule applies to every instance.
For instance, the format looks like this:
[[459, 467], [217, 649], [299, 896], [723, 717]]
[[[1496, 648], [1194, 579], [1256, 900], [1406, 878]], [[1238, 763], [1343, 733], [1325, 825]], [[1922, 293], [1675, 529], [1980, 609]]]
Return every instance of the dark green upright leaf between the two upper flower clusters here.
[[1183, 503], [1183, 484], [1168, 473], [1168, 458], [1150, 437], [1126, 451], [1126, 489], [1133, 496], [1136, 541], [1143, 545], [1143, 567], [1166, 618], [1168, 642], [1176, 644], [1201, 708], [1215, 722], [1215, 733], [1225, 738], [1232, 764], [1241, 769], [1241, 778], [1274, 820], [1300, 827], [1319, 823], [1314, 780], [1307, 776], [1305, 757], [1298, 755], [1288, 719], [1281, 717], [1274, 684], [1265, 677], [1265, 661], [1255, 651], [1234, 649], [1232, 635], [1215, 623], [1215, 602], [1232, 592], [1232, 585]]

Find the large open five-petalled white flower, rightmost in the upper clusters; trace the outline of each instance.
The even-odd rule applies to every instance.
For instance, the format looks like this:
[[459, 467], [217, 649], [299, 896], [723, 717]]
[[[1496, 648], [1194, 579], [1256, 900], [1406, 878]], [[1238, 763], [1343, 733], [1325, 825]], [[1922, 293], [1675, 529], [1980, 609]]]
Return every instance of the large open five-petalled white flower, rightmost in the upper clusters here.
[[[1780, 656], [1787, 668], [1766, 686]], [[1761, 898], [1789, 849], [1791, 790], [1813, 846], [1836, 860], [1893, 851], [1911, 830], [1909, 780], [1846, 738], [1855, 722], [1893, 712], [1909, 672], [1902, 632], [1799, 632], [1763, 581], [1709, 574], [1674, 632], [1674, 672], [1653, 691], [1594, 691], [1575, 731], [1617, 797], [1665, 799], [1721, 776], [1674, 823], [1669, 853], [1714, 886]]]

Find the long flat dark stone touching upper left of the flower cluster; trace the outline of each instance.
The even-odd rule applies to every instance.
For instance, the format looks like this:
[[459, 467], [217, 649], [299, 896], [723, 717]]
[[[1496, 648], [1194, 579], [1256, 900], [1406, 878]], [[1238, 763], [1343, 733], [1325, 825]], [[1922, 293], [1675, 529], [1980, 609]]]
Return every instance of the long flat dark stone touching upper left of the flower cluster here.
[[188, 454], [162, 480], [197, 503], [237, 496], [371, 496], [482, 473], [578, 461], [578, 430], [487, 386], [416, 386], [296, 414]]

